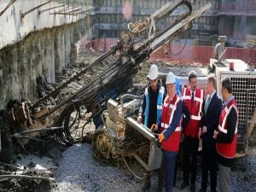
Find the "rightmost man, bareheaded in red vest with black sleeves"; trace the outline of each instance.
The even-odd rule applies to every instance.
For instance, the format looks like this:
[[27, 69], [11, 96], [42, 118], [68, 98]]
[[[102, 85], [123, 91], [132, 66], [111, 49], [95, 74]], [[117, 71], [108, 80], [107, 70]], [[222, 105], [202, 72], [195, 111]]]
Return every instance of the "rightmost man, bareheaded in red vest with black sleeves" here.
[[221, 95], [224, 100], [224, 109], [218, 121], [218, 131], [214, 131], [219, 162], [219, 188], [221, 192], [230, 191], [230, 171], [236, 158], [236, 138], [238, 125], [238, 110], [232, 83], [229, 78], [221, 81]]

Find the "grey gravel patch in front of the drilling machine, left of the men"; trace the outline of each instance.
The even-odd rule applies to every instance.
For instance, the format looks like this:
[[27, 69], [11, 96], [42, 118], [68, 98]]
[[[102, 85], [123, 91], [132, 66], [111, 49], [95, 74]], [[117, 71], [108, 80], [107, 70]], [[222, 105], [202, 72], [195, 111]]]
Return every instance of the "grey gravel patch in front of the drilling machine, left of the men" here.
[[139, 183], [131, 174], [96, 161], [90, 144], [77, 144], [63, 154], [56, 173], [57, 191], [139, 191]]

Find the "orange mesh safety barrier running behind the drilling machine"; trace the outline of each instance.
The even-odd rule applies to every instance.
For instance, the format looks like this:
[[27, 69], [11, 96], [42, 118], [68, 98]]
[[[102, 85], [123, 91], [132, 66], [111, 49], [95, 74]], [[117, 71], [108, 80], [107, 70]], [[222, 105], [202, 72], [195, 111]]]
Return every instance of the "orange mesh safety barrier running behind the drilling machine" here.
[[[85, 42], [81, 46], [83, 49], [95, 49], [97, 52], [105, 52], [111, 45], [116, 44], [117, 38], [101, 38], [94, 41]], [[207, 65], [212, 58], [214, 47], [195, 46], [186, 44], [166, 44], [163, 48], [150, 55], [151, 61], [169, 61], [182, 64], [201, 63]], [[256, 49], [228, 47], [224, 58], [241, 59], [256, 66]]]

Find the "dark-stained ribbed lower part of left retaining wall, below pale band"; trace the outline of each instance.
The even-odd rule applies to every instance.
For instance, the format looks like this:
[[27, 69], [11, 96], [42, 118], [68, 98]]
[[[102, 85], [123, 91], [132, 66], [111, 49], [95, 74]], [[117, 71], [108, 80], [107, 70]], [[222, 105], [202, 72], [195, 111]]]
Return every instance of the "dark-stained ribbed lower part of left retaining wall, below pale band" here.
[[39, 76], [55, 82], [55, 74], [70, 64], [70, 55], [84, 20], [32, 32], [24, 40], [0, 50], [0, 109], [10, 100], [37, 99]]

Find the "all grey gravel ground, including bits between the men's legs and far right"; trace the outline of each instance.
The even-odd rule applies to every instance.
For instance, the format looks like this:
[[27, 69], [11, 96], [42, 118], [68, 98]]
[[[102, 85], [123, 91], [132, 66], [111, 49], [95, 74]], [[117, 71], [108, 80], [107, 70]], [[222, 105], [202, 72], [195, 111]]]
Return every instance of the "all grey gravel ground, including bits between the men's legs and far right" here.
[[[199, 162], [200, 162], [199, 157]], [[231, 191], [256, 191], [256, 157], [237, 160], [235, 170], [231, 172]], [[151, 191], [157, 191], [157, 172], [151, 174]], [[90, 144], [77, 144], [62, 154], [59, 169], [55, 174], [56, 185], [51, 192], [96, 192], [96, 191], [141, 191], [142, 181], [136, 179], [123, 167], [111, 166], [95, 160], [91, 154]], [[182, 172], [177, 172], [177, 186], [182, 183]], [[201, 185], [201, 168], [198, 167], [196, 191]], [[174, 192], [189, 192], [189, 187]], [[208, 188], [208, 191], [210, 189]]]

